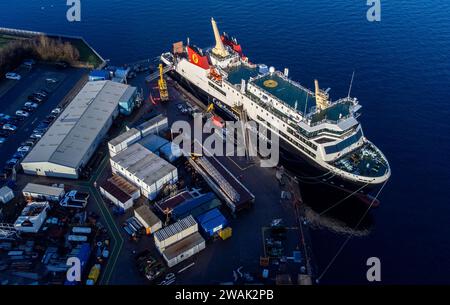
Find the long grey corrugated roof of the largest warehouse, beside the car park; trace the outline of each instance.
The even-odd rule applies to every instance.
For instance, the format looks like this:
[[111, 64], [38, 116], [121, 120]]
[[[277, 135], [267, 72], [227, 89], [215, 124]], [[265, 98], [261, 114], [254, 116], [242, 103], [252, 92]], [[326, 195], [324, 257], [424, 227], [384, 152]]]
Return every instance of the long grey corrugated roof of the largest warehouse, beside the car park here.
[[111, 81], [86, 83], [22, 162], [78, 168], [128, 87]]

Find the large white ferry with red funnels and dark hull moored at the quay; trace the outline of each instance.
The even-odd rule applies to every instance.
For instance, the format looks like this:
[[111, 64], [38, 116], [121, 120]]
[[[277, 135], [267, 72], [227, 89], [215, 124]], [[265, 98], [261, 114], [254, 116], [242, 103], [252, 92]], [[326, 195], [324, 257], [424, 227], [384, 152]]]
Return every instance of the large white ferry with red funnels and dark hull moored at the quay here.
[[235, 38], [221, 35], [213, 18], [211, 24], [214, 47], [202, 50], [180, 41], [161, 55], [183, 87], [231, 119], [245, 113], [277, 134], [280, 159], [301, 173], [300, 181], [369, 194], [389, 179], [388, 160], [364, 136], [361, 105], [350, 90], [332, 101], [317, 80], [312, 91], [291, 80], [288, 69], [253, 64]]

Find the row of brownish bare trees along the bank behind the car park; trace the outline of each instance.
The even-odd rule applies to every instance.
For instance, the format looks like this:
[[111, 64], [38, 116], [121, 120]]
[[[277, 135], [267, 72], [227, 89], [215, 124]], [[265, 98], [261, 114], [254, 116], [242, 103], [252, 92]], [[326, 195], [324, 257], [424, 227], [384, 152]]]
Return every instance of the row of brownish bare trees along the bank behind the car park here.
[[80, 53], [70, 42], [48, 36], [15, 40], [0, 49], [0, 75], [14, 70], [25, 59], [65, 61], [73, 64], [80, 59]]

